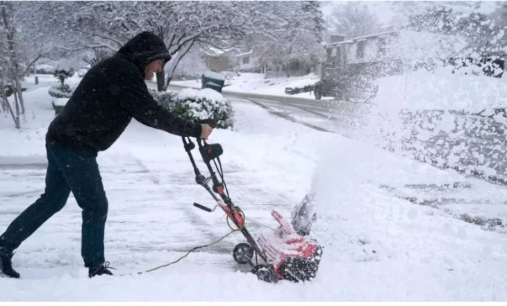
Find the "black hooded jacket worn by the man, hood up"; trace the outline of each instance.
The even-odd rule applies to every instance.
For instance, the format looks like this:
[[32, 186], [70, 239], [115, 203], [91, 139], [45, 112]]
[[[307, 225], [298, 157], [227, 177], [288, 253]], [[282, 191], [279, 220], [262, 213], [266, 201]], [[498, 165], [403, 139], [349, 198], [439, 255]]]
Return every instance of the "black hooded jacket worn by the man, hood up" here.
[[188, 122], [160, 106], [144, 83], [144, 68], [171, 56], [150, 32], [128, 41], [117, 53], [85, 74], [63, 111], [49, 125], [47, 141], [74, 150], [108, 149], [132, 118], [177, 136], [200, 137], [201, 124]]

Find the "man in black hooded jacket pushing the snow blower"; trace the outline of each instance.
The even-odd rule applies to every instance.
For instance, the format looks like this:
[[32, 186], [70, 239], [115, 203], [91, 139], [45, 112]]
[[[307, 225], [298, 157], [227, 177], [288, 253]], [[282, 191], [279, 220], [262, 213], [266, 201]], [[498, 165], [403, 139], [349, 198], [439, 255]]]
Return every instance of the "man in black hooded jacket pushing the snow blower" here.
[[117, 54], [90, 69], [46, 135], [46, 188], [0, 236], [0, 270], [19, 277], [12, 267], [15, 249], [53, 214], [63, 209], [70, 192], [83, 209], [81, 256], [89, 277], [112, 275], [104, 259], [104, 226], [108, 200], [97, 165], [132, 118], [177, 136], [207, 139], [208, 124], [188, 122], [161, 107], [144, 79], [163, 70], [171, 56], [158, 36], [143, 32]]

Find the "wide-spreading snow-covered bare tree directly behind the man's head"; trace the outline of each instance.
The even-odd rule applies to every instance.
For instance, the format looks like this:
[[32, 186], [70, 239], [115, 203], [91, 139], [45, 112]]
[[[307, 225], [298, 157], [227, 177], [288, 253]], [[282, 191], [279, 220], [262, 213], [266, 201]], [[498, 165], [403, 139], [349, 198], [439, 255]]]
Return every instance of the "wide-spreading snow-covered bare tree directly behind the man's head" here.
[[[134, 35], [152, 31], [162, 38], [173, 59], [166, 67], [168, 77], [158, 75], [159, 90], [172, 78], [181, 58], [198, 44], [224, 48], [242, 38], [248, 12], [241, 2], [222, 1], [108, 1], [49, 3], [52, 14], [46, 26], [65, 29], [65, 49], [104, 48], [117, 51]], [[61, 30], [58, 30], [61, 31]]]

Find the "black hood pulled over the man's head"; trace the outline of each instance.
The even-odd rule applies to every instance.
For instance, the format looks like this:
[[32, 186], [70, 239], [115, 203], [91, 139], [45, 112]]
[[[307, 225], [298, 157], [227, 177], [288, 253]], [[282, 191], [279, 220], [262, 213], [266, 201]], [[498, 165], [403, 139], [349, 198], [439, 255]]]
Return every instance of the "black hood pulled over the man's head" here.
[[133, 62], [142, 74], [144, 74], [144, 68], [152, 61], [163, 59], [165, 65], [171, 59], [163, 40], [148, 31], [135, 35], [117, 53]]

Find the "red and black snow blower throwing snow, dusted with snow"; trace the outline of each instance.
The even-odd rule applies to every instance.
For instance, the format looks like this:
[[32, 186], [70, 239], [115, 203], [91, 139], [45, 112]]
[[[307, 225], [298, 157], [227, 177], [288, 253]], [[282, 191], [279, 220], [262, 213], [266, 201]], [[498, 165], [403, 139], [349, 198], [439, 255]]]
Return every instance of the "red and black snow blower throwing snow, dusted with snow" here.
[[[210, 172], [210, 177], [206, 178], [199, 172], [192, 156], [191, 151], [195, 148], [192, 140], [183, 137], [183, 144], [194, 168], [195, 181], [206, 188], [206, 191], [217, 202], [213, 209], [199, 203], [194, 203], [194, 207], [208, 212], [213, 212], [217, 207], [220, 207], [226, 213], [229, 227], [231, 227], [229, 220], [232, 220], [237, 227], [236, 231], [241, 232], [247, 239], [247, 242], [235, 246], [233, 259], [238, 264], [250, 265], [251, 273], [265, 282], [278, 282], [279, 280], [302, 282], [313, 279], [319, 268], [322, 246], [315, 239], [309, 237], [311, 223], [315, 220], [315, 214], [312, 214], [313, 211], [309, 209], [310, 196], [307, 195], [301, 204], [294, 208], [290, 223], [283, 218], [279, 211], [274, 209], [272, 216], [279, 223], [279, 227], [276, 230], [270, 229], [269, 232], [264, 232], [258, 239], [253, 239], [245, 226], [244, 212], [240, 207], [235, 206], [229, 198], [227, 185], [224, 182], [222, 163], [219, 159], [219, 156], [223, 154], [222, 146], [208, 144], [203, 139], [197, 138], [199, 152]], [[211, 166], [212, 161], [215, 163], [217, 172], [214, 172]], [[208, 186], [210, 180], [213, 182], [211, 188]]]

